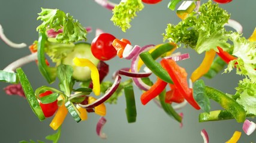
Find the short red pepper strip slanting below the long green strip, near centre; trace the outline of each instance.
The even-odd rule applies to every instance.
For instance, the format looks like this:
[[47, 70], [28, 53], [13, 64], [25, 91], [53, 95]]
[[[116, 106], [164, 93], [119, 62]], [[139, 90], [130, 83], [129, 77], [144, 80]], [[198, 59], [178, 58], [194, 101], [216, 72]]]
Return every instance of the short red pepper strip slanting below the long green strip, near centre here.
[[156, 82], [150, 87], [150, 89], [141, 95], [141, 103], [143, 105], [146, 105], [147, 102], [157, 97], [157, 95], [161, 94], [161, 92], [165, 89], [166, 85], [167, 82], [164, 82], [164, 80], [157, 78]]

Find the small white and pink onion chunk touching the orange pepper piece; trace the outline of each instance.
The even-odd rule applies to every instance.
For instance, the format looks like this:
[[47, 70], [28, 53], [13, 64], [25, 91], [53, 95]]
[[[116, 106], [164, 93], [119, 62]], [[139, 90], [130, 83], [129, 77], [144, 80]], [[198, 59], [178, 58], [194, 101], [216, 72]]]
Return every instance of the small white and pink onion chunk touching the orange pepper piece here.
[[131, 58], [134, 57], [134, 55], [136, 55], [136, 53], [138, 51], [140, 51], [140, 46], [135, 45], [135, 46], [131, 46], [129, 44], [127, 44], [127, 46], [125, 46], [124, 52], [123, 52], [123, 57], [127, 60], [130, 60]]

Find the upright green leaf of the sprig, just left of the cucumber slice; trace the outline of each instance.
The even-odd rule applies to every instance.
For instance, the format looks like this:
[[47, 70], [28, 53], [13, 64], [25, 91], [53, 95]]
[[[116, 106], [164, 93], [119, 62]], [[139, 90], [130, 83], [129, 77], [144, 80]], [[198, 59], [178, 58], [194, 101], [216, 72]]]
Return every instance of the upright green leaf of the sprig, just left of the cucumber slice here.
[[72, 79], [73, 67], [61, 64], [58, 66], [57, 73], [59, 88], [69, 97], [74, 86], [74, 80]]

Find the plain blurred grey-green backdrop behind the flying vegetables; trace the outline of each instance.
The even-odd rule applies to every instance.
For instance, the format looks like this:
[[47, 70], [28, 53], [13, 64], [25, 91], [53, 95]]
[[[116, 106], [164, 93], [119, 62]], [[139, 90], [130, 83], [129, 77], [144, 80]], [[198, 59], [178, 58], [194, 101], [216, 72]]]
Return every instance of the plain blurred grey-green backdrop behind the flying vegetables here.
[[[119, 1], [112, 1], [119, 3]], [[91, 42], [95, 36], [95, 29], [100, 28], [104, 32], [112, 33], [116, 38], [127, 38], [132, 45], [144, 46], [147, 44], [162, 43], [162, 33], [165, 32], [167, 23], [177, 24], [180, 19], [174, 11], [168, 10], [168, 0], [163, 0], [156, 5], [144, 4], [144, 9], [138, 13], [137, 17], [131, 22], [131, 29], [126, 33], [119, 27], [113, 25], [110, 18], [112, 11], [106, 10], [94, 1], [85, 0], [53, 0], [53, 1], [35, 1], [35, 0], [0, 0], [0, 24], [4, 33], [11, 41], [16, 43], [25, 42], [31, 45], [38, 39], [38, 33], [35, 30], [41, 23], [37, 21], [37, 13], [43, 8], [59, 8], [65, 13], [70, 13], [75, 19], [79, 20], [83, 26], [91, 26], [94, 30], [88, 34], [88, 42]], [[206, 1], [202, 1], [206, 2]], [[220, 5], [231, 13], [231, 18], [237, 20], [243, 26], [243, 36], [249, 38], [256, 26], [255, 18], [256, 1], [234, 0], [229, 4]], [[0, 41], [0, 69], [4, 69], [8, 64], [25, 55], [30, 54], [28, 48], [14, 49]], [[185, 67], [188, 77], [201, 63], [203, 55], [197, 55], [191, 49], [178, 49], [181, 52], [189, 52], [190, 59], [180, 61], [179, 64]], [[111, 80], [111, 74], [124, 67], [130, 66], [130, 61], [114, 58], [107, 61], [110, 65], [110, 75], [106, 80]], [[115, 66], [114, 66], [115, 65]], [[23, 70], [28, 76], [34, 89], [48, 85], [38, 71], [35, 63], [23, 66]], [[204, 78], [203, 78], [204, 79]], [[236, 76], [234, 72], [229, 74], [218, 74], [214, 79], [204, 79], [206, 85], [213, 86], [223, 92], [234, 94], [234, 88], [237, 86], [241, 77]], [[2, 90], [8, 83], [0, 83]], [[56, 83], [51, 86], [58, 87]], [[239, 142], [255, 142], [255, 133], [247, 136], [242, 131], [242, 123], [236, 123], [236, 120], [225, 120], [221, 122], [198, 123], [198, 114], [202, 111], [196, 111], [190, 105], [179, 110], [183, 112], [183, 127], [171, 119], [164, 110], [158, 108], [154, 102], [147, 105], [141, 105], [141, 91], [134, 86], [135, 100], [137, 106], [137, 122], [127, 123], [125, 114], [125, 97], [118, 100], [118, 104], [107, 105], [107, 123], [103, 128], [108, 136], [103, 140], [95, 132], [96, 125], [100, 116], [91, 113], [88, 114], [88, 120], [76, 123], [68, 114], [62, 125], [62, 134], [59, 142], [203, 142], [200, 135], [202, 129], [206, 129], [209, 134], [210, 142], [225, 142], [231, 138], [235, 130], [242, 132]], [[2, 90], [0, 100], [0, 138], [1, 142], [19, 142], [43, 140], [46, 135], [55, 133], [49, 127], [52, 118], [40, 122], [29, 107], [25, 98], [18, 96], [8, 96]], [[212, 110], [221, 109], [215, 102], [212, 103]], [[254, 120], [255, 121], [255, 120]]]

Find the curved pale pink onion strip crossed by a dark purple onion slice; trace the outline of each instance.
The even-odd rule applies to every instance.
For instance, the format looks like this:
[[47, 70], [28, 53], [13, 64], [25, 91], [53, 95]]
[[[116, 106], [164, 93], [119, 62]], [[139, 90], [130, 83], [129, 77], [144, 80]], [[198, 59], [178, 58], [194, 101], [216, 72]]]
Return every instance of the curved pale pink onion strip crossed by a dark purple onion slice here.
[[[134, 55], [134, 58], [132, 58], [131, 61], [131, 71], [134, 73], [138, 73], [138, 60], [140, 59], [139, 54], [144, 51], [148, 51], [149, 49], [155, 48], [155, 45], [146, 45], [143, 46], [139, 52], [137, 52], [136, 55]], [[133, 82], [135, 85], [138, 86], [143, 91], [147, 91], [150, 89], [150, 86], [146, 85], [140, 78], [134, 78], [132, 77]]]

